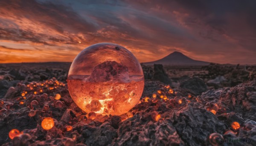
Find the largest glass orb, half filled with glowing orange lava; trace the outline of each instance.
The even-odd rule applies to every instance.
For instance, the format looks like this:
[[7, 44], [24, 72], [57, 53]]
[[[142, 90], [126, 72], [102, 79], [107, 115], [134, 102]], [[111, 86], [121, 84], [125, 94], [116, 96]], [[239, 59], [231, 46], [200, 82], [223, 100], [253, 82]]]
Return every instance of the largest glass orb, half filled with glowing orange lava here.
[[76, 56], [67, 85], [72, 99], [85, 112], [122, 115], [140, 100], [144, 75], [130, 51], [116, 44], [98, 43]]

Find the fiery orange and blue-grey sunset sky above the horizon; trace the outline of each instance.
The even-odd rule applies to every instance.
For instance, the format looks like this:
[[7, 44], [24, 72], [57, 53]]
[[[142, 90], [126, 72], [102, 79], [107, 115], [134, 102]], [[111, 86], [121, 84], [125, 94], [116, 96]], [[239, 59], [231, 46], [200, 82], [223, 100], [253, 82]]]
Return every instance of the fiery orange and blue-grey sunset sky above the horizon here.
[[116, 43], [140, 62], [178, 51], [256, 64], [255, 0], [0, 0], [0, 63], [72, 62]]

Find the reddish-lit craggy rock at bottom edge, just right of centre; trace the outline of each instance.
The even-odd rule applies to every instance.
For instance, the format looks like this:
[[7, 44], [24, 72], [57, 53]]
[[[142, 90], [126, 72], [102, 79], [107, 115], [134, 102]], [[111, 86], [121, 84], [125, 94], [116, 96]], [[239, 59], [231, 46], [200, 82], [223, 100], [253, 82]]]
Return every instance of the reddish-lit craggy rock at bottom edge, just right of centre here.
[[150, 115], [134, 115], [120, 124], [117, 133], [113, 146], [184, 145], [170, 119], [155, 123]]

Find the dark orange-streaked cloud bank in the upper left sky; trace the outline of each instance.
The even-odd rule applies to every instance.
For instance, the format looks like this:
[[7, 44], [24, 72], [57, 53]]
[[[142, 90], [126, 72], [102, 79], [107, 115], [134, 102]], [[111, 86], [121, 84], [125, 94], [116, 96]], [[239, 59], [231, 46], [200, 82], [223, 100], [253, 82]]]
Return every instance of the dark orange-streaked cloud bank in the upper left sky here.
[[[69, 34], [70, 32], [96, 30], [93, 24], [81, 19], [70, 7], [61, 4], [38, 3], [34, 0], [1, 0], [0, 7], [0, 39], [29, 40], [46, 45], [49, 45], [48, 41], [75, 44], [78, 41]], [[29, 25], [31, 27], [26, 27]], [[53, 30], [52, 34], [59, 34], [51, 36], [51, 33], [42, 32], [47, 29]]]

